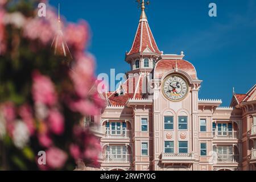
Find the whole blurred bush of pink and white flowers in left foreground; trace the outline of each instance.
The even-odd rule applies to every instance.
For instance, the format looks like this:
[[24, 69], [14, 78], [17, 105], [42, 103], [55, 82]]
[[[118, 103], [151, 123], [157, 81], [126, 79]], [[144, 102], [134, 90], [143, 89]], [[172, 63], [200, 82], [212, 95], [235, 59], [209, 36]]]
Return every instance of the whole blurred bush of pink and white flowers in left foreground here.
[[0, 169], [72, 170], [78, 159], [97, 165], [100, 142], [80, 125], [105, 105], [92, 91], [88, 24], [58, 23], [48, 4], [40, 18], [38, 3], [0, 0]]

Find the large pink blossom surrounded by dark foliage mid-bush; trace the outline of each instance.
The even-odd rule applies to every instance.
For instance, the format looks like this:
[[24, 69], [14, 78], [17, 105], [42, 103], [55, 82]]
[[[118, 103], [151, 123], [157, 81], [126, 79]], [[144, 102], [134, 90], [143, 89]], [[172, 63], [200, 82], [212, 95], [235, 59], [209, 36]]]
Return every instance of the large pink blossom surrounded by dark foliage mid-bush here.
[[56, 92], [51, 79], [34, 72], [32, 75], [32, 95], [35, 102], [54, 105], [56, 103]]

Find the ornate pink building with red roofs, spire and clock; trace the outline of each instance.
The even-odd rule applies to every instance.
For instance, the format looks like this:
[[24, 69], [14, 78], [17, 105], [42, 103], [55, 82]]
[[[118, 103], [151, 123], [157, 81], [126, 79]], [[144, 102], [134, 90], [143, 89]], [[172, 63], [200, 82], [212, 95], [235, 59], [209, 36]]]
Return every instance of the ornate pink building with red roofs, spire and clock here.
[[[100, 117], [101, 170], [256, 170], [256, 85], [221, 100], [200, 100], [196, 68], [159, 51], [142, 14], [125, 61], [131, 70]], [[94, 118], [94, 119], [93, 119]]]

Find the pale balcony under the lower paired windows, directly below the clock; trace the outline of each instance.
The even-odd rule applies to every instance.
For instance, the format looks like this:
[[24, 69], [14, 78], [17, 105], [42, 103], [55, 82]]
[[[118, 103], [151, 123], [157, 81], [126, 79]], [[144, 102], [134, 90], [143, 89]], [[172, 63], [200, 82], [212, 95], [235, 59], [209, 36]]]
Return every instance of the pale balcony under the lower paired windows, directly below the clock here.
[[193, 153], [162, 153], [162, 163], [188, 163], [195, 160]]

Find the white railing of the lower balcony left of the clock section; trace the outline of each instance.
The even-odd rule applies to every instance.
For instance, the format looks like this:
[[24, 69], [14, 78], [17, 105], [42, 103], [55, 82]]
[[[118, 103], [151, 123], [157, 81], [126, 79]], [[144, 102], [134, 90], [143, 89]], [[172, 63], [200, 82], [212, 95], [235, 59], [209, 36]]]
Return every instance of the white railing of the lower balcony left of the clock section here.
[[102, 160], [106, 163], [131, 163], [131, 154], [102, 154]]

